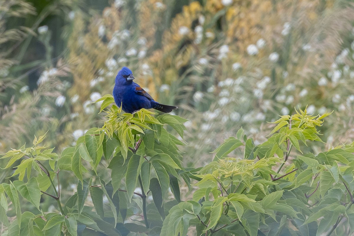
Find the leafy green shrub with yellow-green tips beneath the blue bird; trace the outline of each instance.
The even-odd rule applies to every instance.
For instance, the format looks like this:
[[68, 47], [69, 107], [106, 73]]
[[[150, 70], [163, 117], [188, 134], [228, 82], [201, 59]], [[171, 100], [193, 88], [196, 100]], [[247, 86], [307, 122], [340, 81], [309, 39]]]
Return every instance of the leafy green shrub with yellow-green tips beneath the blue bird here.
[[[113, 97], [99, 101], [103, 110]], [[0, 220], [7, 227], [3, 235], [350, 235], [354, 231], [354, 143], [316, 155], [303, 151], [304, 145], [321, 144], [317, 128], [329, 113], [310, 116], [305, 109], [281, 116], [260, 145], [240, 129], [214, 151], [212, 162], [185, 168], [178, 148], [185, 145], [185, 119], [169, 114], [155, 118], [145, 109], [120, 114], [115, 105], [106, 112], [102, 128], [90, 129], [61, 155], [41, 146], [45, 138], [41, 136], [35, 137], [33, 146], [1, 157], [7, 160], [5, 168], [16, 165], [9, 183], [0, 185]], [[166, 125], [180, 138], [167, 132]], [[232, 156], [240, 148], [243, 154]], [[101, 178], [106, 172], [111, 178]], [[59, 183], [59, 175], [75, 176], [74, 194], [61, 192], [65, 183]], [[192, 197], [181, 197], [183, 185], [193, 189]], [[56, 201], [57, 207], [48, 212], [41, 198], [44, 203]]]

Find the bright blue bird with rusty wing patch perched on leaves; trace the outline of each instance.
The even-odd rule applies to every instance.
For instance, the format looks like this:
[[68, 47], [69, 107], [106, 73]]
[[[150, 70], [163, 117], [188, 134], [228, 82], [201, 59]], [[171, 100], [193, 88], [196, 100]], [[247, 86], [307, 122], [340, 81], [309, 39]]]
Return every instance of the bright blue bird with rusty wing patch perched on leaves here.
[[127, 67], [122, 67], [115, 77], [114, 102], [125, 113], [135, 113], [142, 108], [154, 108], [163, 113], [169, 113], [177, 109], [176, 106], [156, 102], [150, 94], [133, 81], [134, 79], [132, 71]]

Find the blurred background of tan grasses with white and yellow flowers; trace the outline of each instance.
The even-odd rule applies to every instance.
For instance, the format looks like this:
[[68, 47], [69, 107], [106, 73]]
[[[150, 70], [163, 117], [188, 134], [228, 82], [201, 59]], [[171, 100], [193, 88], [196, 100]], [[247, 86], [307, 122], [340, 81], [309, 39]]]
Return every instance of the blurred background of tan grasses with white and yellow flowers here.
[[0, 153], [47, 131], [60, 153], [102, 126], [92, 102], [122, 66], [189, 119], [185, 166], [241, 127], [262, 143], [298, 107], [333, 111], [323, 149], [348, 142], [353, 27], [351, 0], [0, 0]]

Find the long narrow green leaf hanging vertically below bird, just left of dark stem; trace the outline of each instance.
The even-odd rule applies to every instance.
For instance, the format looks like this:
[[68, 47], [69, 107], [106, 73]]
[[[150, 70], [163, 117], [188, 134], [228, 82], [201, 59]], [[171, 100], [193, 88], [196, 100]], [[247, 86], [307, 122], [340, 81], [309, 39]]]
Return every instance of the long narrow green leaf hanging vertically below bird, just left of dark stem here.
[[139, 175], [139, 163], [140, 160], [142, 159], [142, 157], [140, 157], [139, 155], [134, 154], [128, 163], [128, 167], [127, 167], [127, 173], [125, 176], [125, 186], [126, 186], [126, 190], [127, 190], [127, 194], [129, 197], [129, 201], [131, 202], [131, 198], [133, 196], [134, 193], [134, 189], [136, 187], [136, 183], [138, 180], [138, 175]]

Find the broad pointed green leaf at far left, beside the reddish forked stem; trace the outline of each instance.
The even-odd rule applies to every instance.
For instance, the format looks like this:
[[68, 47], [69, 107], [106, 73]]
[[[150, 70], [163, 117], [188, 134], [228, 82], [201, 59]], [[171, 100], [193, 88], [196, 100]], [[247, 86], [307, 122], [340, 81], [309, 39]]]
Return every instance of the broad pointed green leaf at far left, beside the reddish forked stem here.
[[22, 195], [22, 197], [26, 198], [37, 209], [39, 209], [41, 192], [39, 190], [39, 185], [36, 178], [30, 178], [30, 180], [26, 184], [18, 186], [17, 189]]

